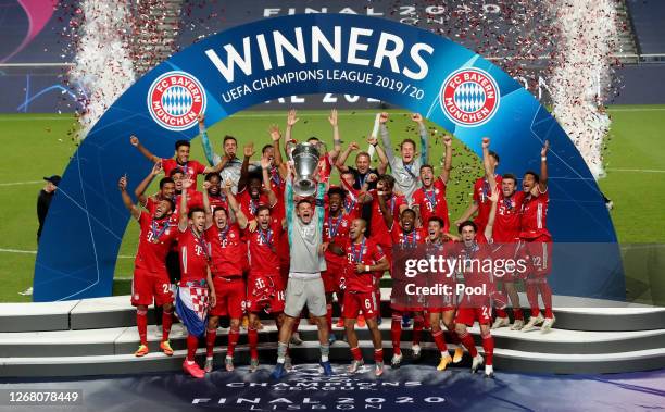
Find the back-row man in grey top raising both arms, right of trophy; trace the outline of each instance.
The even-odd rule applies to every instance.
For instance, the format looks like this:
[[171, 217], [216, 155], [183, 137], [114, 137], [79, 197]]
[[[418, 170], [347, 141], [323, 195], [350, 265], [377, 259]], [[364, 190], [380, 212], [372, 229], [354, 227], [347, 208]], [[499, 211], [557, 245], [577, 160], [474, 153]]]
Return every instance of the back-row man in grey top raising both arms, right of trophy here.
[[398, 190], [404, 193], [406, 200], [409, 201], [411, 201], [413, 192], [421, 184], [418, 176], [416, 175], [417, 171], [421, 170], [423, 164], [429, 163], [428, 134], [425, 123], [423, 122], [423, 116], [418, 113], [414, 113], [411, 115], [411, 120], [418, 125], [418, 130], [421, 134], [421, 150], [423, 153], [421, 157], [417, 157], [416, 142], [412, 139], [404, 139], [400, 143], [401, 158], [398, 158], [392, 154], [392, 145], [388, 135], [388, 127], [386, 126], [386, 123], [388, 122], [388, 113], [384, 112], [379, 117], [381, 140], [384, 141], [386, 157], [390, 163], [390, 170], [392, 171], [392, 175], [397, 180]]

